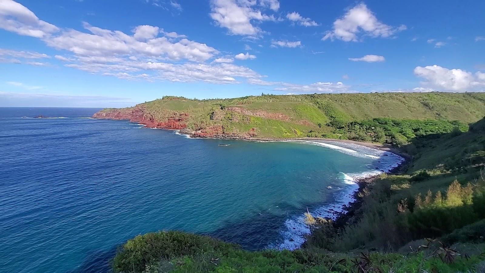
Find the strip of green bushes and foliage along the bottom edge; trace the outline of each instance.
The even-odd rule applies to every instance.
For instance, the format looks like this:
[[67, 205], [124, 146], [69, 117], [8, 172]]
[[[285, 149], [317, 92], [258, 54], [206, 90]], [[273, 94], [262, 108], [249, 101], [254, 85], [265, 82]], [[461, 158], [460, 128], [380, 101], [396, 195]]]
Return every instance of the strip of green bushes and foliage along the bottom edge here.
[[339, 254], [324, 250], [241, 250], [204, 236], [176, 231], [148, 233], [130, 239], [113, 259], [117, 273], [162, 272], [458, 272], [472, 269], [483, 255], [447, 261], [423, 251], [409, 255]]

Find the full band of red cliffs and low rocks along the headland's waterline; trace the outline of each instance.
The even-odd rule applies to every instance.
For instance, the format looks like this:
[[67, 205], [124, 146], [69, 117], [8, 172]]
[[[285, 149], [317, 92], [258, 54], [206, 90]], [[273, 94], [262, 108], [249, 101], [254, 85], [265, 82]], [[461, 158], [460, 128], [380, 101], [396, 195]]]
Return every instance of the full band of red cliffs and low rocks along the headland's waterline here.
[[138, 122], [146, 125], [147, 128], [160, 128], [169, 130], [180, 130], [180, 133], [194, 137], [216, 137], [216, 138], [234, 138], [234, 139], [254, 139], [258, 135], [256, 128], [251, 128], [248, 132], [234, 133], [227, 132], [223, 125], [210, 125], [206, 128], [193, 131], [187, 128], [187, 119], [189, 116], [185, 113], [173, 112], [165, 120], [157, 120], [147, 113], [145, 106], [139, 105], [131, 108], [112, 109], [108, 111], [99, 111], [93, 115], [97, 119], [128, 119], [129, 121]]

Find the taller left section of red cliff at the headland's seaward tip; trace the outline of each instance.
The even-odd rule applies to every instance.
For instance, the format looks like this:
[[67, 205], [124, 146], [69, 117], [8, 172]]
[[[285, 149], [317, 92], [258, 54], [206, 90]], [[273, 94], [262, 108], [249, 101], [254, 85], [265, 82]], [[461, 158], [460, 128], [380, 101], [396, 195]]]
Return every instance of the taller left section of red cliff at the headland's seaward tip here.
[[129, 119], [146, 125], [148, 128], [163, 128], [180, 130], [187, 127], [186, 120], [189, 116], [185, 113], [174, 112], [166, 120], [156, 120], [153, 115], [146, 112], [145, 106], [135, 106], [125, 109], [113, 109], [110, 111], [99, 111], [93, 115], [97, 119]]

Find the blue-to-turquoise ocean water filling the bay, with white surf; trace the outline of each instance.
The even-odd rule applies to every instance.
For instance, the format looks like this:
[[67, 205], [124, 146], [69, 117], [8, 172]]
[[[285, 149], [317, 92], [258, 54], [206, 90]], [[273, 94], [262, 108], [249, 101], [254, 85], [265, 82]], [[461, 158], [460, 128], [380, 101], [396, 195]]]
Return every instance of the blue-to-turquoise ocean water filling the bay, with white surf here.
[[352, 177], [400, 160], [333, 142], [191, 139], [89, 119], [98, 110], [0, 107], [0, 272], [108, 272], [118, 245], [158, 230], [293, 249], [307, 208], [330, 216]]

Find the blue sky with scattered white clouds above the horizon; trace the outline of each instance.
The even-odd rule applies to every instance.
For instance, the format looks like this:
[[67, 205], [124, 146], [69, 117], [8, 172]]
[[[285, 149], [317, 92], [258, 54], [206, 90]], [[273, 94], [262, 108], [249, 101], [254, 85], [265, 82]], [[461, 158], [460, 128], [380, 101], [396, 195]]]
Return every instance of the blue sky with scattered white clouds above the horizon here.
[[485, 91], [485, 1], [0, 0], [0, 106]]

